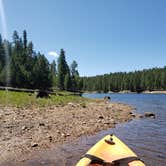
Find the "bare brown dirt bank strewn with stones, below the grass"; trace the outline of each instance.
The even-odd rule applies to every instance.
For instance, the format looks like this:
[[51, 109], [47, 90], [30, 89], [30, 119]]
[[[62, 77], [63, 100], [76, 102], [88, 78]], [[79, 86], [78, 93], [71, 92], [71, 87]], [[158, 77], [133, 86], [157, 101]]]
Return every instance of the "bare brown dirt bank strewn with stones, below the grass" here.
[[0, 165], [8, 159], [26, 160], [30, 152], [114, 127], [132, 119], [132, 110], [128, 105], [103, 100], [40, 109], [1, 107]]

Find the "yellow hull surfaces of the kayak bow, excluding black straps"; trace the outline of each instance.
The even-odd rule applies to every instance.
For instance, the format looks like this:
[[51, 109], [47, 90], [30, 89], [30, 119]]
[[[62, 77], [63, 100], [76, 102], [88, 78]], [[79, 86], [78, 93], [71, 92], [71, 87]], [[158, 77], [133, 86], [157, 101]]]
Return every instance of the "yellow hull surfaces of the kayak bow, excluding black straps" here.
[[[95, 156], [107, 163], [125, 158], [137, 158], [137, 155], [115, 135], [107, 135], [97, 142], [85, 156]], [[76, 166], [90, 165], [92, 159], [83, 157]], [[129, 166], [145, 166], [140, 160], [130, 161]]]

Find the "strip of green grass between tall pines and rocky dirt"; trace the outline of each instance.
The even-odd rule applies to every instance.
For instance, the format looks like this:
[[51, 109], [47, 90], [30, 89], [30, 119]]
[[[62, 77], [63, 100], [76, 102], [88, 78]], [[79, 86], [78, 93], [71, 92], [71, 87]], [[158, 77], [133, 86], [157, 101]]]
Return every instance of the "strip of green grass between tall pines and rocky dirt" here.
[[69, 102], [80, 103], [88, 100], [80, 96], [69, 95], [68, 92], [61, 92], [63, 96], [50, 95], [50, 98], [36, 98], [33, 93], [13, 92], [0, 90], [0, 105], [15, 107], [46, 107], [52, 105], [66, 105]]

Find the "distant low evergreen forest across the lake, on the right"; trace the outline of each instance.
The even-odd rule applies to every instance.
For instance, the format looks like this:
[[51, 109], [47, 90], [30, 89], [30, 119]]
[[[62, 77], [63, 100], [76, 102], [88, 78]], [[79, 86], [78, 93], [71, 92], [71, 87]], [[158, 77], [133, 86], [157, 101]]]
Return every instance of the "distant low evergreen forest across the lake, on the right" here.
[[117, 72], [94, 77], [83, 77], [84, 91], [119, 92], [129, 90], [166, 90], [166, 67], [134, 72]]

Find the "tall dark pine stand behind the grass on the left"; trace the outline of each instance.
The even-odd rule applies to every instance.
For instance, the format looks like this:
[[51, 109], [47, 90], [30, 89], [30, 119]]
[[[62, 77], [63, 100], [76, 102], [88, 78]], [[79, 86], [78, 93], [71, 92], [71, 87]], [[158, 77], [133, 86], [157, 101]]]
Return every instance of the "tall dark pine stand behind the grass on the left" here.
[[0, 86], [76, 91], [81, 89], [77, 68], [76, 61], [68, 65], [63, 49], [57, 62], [49, 63], [44, 54], [34, 50], [32, 41], [27, 40], [26, 30], [22, 36], [14, 31], [12, 42], [2, 39], [0, 34]]

